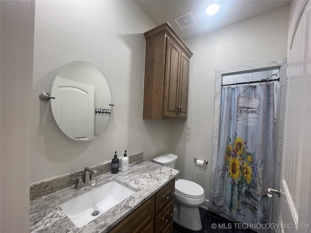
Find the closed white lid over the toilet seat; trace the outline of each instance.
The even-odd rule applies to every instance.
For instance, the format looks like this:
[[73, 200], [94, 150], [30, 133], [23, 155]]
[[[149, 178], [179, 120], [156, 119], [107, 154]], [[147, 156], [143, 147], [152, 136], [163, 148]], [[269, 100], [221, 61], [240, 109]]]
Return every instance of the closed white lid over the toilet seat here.
[[205, 195], [199, 184], [182, 179], [175, 182], [175, 192], [190, 198], [202, 198]]

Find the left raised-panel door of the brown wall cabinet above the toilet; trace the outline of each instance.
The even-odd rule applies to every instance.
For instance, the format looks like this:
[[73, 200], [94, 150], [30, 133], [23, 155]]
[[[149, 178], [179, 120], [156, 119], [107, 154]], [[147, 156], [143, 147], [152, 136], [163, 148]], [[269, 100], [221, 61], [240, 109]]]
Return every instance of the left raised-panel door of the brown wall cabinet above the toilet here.
[[178, 115], [180, 54], [181, 50], [177, 44], [167, 37], [163, 117], [177, 117]]

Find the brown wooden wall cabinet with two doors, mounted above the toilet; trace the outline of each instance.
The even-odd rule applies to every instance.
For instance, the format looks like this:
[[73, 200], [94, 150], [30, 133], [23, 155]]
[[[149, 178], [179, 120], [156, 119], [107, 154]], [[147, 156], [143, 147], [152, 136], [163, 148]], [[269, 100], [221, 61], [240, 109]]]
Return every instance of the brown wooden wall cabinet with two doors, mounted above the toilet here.
[[193, 53], [168, 23], [146, 33], [143, 119], [187, 118]]

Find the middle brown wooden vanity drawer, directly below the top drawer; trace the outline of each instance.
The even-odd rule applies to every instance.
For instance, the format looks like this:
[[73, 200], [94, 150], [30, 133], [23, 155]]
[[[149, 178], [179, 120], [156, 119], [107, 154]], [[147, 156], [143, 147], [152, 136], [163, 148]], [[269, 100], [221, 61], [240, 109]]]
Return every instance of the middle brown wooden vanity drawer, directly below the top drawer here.
[[171, 200], [156, 216], [155, 216], [155, 233], [169, 232], [173, 226], [174, 200]]

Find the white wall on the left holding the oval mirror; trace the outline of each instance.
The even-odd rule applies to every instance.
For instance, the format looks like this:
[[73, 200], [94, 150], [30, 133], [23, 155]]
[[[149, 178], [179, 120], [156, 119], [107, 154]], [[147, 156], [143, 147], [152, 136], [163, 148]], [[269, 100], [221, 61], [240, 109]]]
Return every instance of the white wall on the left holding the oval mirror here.
[[[149, 160], [169, 150], [170, 122], [142, 120], [143, 33], [154, 27], [134, 1], [36, 1], [31, 183], [109, 161], [115, 150], [143, 151]], [[69, 139], [51, 103], [38, 99], [75, 60], [103, 72], [115, 104], [104, 133], [90, 142]]]

